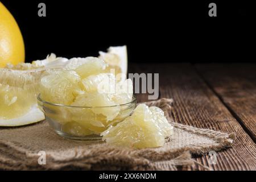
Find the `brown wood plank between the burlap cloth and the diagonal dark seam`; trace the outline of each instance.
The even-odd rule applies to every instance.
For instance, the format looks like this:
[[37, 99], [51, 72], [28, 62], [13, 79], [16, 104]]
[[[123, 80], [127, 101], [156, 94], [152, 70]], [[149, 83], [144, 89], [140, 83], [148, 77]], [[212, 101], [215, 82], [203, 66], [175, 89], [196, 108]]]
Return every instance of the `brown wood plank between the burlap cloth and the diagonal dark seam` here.
[[[217, 153], [217, 164], [209, 164], [208, 155], [197, 162], [213, 170], [256, 169], [256, 146], [229, 110], [209, 89], [189, 64], [131, 65], [130, 72], [160, 73], [160, 97], [174, 98], [172, 118], [179, 123], [199, 128], [236, 133], [234, 146]], [[139, 100], [144, 100], [141, 98]], [[204, 170], [195, 164], [184, 170]]]

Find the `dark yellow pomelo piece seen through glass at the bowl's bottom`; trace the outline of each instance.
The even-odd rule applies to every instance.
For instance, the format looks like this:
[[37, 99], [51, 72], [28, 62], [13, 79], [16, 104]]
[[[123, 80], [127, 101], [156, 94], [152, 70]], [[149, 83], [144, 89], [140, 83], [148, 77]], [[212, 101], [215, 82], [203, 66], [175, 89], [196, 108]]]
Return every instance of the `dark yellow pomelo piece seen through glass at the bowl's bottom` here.
[[68, 133], [71, 135], [79, 136], [79, 137], [84, 137], [86, 135], [92, 135], [93, 132], [86, 129], [84, 126], [80, 125], [77, 122], [68, 122], [65, 123], [64, 125], [61, 125], [61, 131], [64, 133]]

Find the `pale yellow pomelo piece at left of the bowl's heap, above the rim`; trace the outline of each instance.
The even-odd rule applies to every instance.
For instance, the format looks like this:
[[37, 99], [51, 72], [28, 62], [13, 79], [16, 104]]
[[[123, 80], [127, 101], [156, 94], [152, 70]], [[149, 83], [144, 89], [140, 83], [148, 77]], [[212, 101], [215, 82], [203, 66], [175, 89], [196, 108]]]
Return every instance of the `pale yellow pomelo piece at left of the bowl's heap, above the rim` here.
[[75, 71], [56, 71], [40, 81], [43, 100], [53, 104], [70, 105], [75, 99], [73, 90], [79, 88], [80, 76]]

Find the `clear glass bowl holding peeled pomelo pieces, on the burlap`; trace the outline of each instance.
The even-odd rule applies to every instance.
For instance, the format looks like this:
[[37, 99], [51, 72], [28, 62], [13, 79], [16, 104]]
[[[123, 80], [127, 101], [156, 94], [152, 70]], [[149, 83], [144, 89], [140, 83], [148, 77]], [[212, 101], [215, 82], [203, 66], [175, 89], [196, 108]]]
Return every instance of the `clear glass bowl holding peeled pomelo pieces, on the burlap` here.
[[[43, 111], [46, 121], [61, 137], [73, 140], [101, 140], [100, 133], [115, 126], [128, 117], [137, 103], [114, 106], [67, 106], [44, 101], [38, 95], [38, 106]], [[102, 114], [104, 113], [104, 114]]]

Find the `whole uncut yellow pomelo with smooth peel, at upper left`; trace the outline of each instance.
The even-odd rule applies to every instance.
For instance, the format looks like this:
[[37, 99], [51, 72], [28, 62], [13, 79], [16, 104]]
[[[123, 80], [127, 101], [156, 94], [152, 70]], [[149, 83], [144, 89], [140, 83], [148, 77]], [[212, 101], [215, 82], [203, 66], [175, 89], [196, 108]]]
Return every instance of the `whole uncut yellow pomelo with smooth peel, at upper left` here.
[[22, 34], [13, 15], [0, 2], [0, 68], [25, 60]]

